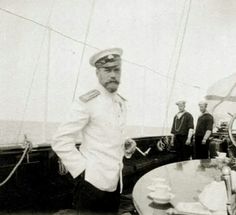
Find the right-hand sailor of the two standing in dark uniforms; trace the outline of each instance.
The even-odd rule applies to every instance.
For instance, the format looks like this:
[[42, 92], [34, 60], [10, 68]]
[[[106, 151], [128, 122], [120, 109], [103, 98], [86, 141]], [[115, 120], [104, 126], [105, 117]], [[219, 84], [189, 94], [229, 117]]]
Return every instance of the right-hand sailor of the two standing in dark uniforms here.
[[207, 159], [209, 157], [209, 137], [211, 136], [214, 118], [207, 111], [207, 102], [199, 103], [201, 115], [197, 120], [195, 132], [195, 154], [196, 159]]

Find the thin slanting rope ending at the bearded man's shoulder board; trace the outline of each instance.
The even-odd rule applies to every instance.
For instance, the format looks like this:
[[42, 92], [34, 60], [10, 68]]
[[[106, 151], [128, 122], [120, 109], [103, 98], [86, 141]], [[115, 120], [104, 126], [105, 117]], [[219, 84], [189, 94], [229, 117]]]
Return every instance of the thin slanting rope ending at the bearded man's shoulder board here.
[[82, 49], [82, 53], [81, 53], [79, 69], [78, 69], [78, 73], [77, 73], [77, 77], [76, 77], [76, 81], [75, 81], [75, 88], [74, 88], [74, 93], [73, 93], [73, 99], [72, 100], [75, 99], [76, 90], [77, 90], [77, 87], [78, 87], [79, 74], [80, 74], [80, 71], [81, 71], [81, 68], [82, 68], [82, 63], [83, 63], [83, 60], [84, 60], [84, 53], [85, 53], [85, 48], [86, 48], [85, 43], [87, 43], [87, 40], [88, 40], [88, 35], [89, 35], [89, 30], [90, 30], [90, 26], [91, 26], [91, 20], [92, 20], [94, 8], [95, 8], [95, 0], [92, 0], [91, 10], [90, 10], [89, 19], [88, 19], [88, 25], [87, 25], [87, 29], [86, 29], [86, 33], [85, 33], [84, 45], [83, 45], [83, 49]]

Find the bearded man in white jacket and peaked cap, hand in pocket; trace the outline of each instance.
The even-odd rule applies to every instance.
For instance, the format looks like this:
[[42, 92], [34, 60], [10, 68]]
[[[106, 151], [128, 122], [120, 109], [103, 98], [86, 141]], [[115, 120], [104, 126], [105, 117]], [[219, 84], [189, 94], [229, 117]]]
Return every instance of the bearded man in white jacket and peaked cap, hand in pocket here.
[[[74, 204], [78, 211], [115, 212], [122, 190], [123, 156], [136, 148], [125, 139], [126, 99], [117, 93], [121, 76], [122, 49], [93, 55], [99, 84], [73, 102], [70, 114], [54, 138], [52, 148], [76, 178]], [[81, 134], [77, 150], [75, 138]], [[78, 177], [79, 176], [79, 177]]]

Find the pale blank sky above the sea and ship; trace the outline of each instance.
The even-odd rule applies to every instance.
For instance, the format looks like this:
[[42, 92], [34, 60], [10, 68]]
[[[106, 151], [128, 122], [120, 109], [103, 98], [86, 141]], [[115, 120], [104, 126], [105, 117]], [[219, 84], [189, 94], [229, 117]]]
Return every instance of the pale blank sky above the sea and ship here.
[[179, 99], [196, 119], [235, 73], [236, 2], [0, 0], [0, 120], [63, 121], [75, 87], [97, 83], [89, 58], [110, 47], [124, 50], [128, 125], [170, 127]]

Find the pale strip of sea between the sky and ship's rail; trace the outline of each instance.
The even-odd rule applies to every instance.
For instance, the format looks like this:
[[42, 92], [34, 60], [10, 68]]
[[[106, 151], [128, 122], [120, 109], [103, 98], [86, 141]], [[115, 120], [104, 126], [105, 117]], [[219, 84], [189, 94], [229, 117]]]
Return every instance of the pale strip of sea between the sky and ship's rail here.
[[[23, 126], [22, 126], [23, 125]], [[24, 134], [32, 141], [33, 145], [44, 143], [44, 129], [46, 130], [46, 142], [50, 143], [59, 123], [49, 122], [44, 128], [43, 122], [25, 121], [21, 125], [21, 121], [0, 120], [0, 147], [8, 145], [17, 145], [24, 140]], [[22, 130], [20, 132], [20, 127]], [[163, 131], [160, 127], [144, 127], [142, 126], [127, 126], [126, 136], [142, 137], [142, 136], [158, 136], [169, 134], [170, 129]], [[78, 141], [80, 138], [78, 137]]]

